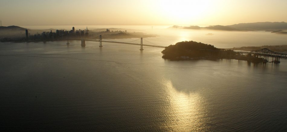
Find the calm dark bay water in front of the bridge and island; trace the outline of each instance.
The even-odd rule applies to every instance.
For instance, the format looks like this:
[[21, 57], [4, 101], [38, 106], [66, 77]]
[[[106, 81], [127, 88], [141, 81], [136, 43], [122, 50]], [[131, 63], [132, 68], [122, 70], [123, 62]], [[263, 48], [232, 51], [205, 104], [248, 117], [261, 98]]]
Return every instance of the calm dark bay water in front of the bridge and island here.
[[0, 43], [1, 131], [287, 130], [286, 60], [168, 61], [161, 48], [65, 43]]

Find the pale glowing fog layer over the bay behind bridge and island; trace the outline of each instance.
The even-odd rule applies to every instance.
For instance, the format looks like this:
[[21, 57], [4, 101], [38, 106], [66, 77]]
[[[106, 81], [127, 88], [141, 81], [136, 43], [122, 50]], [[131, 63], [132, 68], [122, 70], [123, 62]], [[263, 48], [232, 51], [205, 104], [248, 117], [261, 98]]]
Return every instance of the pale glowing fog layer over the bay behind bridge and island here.
[[[157, 37], [145, 38], [147, 41], [160, 46], [169, 46], [180, 41], [196, 41], [214, 45], [218, 48], [233, 48], [241, 46], [264, 46], [264, 45], [286, 45], [287, 36], [265, 31], [218, 31], [218, 30], [191, 30], [191, 29], [169, 29], [172, 25], [65, 25], [65, 26], [20, 26], [31, 29], [29, 33], [42, 33], [42, 31], [56, 32], [56, 29], [88, 30], [102, 29], [105, 30], [127, 30], [127, 32], [143, 32], [147, 34], [159, 35]], [[15, 33], [0, 31], [0, 36], [15, 35], [24, 37], [25, 31], [15, 31]], [[144, 42], [145, 44], [149, 44]]]

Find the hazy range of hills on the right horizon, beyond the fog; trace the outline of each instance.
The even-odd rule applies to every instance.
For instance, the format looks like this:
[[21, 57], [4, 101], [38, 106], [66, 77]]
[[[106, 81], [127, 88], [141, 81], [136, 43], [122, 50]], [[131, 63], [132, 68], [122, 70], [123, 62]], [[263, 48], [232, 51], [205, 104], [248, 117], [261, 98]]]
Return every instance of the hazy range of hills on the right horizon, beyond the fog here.
[[287, 29], [287, 23], [285, 22], [256, 22], [256, 23], [241, 23], [228, 26], [215, 25], [208, 27], [199, 26], [172, 26], [169, 28], [182, 28], [182, 29], [208, 29], [208, 30], [223, 30], [223, 31], [265, 31], [265, 30], [284, 30]]

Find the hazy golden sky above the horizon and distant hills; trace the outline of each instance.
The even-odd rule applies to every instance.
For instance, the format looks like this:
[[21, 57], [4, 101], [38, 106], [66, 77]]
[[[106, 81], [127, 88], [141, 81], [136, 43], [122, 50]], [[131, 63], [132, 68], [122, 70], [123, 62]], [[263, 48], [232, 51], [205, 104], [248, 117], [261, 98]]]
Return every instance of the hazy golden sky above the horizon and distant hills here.
[[10, 25], [232, 25], [287, 22], [287, 0], [1, 0]]

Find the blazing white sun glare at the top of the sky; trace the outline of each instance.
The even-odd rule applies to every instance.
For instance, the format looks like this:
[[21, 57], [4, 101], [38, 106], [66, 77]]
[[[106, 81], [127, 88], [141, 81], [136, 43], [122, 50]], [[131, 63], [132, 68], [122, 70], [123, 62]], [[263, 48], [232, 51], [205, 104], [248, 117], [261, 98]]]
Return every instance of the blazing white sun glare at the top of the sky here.
[[207, 16], [211, 11], [210, 0], [157, 1], [158, 11], [172, 22], [190, 23]]

